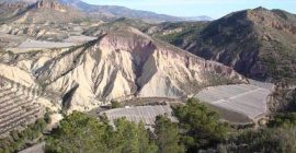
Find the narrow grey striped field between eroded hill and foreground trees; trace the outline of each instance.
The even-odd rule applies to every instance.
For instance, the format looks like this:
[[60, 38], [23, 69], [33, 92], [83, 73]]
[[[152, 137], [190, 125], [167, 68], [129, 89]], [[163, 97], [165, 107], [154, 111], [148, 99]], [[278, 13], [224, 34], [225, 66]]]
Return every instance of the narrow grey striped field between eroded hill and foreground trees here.
[[159, 115], [168, 115], [171, 117], [172, 109], [169, 105], [157, 105], [157, 106], [138, 106], [130, 108], [117, 108], [103, 111], [107, 118], [113, 122], [115, 119], [125, 117], [129, 121], [140, 122], [145, 126], [150, 127], [155, 125], [156, 117]]

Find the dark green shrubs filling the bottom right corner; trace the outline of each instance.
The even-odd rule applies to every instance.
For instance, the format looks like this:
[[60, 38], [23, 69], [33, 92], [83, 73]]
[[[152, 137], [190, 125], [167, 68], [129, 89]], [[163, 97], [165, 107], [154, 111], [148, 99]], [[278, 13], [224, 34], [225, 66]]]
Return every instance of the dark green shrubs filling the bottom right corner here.
[[248, 130], [230, 139], [224, 148], [227, 152], [294, 153], [296, 152], [296, 129]]

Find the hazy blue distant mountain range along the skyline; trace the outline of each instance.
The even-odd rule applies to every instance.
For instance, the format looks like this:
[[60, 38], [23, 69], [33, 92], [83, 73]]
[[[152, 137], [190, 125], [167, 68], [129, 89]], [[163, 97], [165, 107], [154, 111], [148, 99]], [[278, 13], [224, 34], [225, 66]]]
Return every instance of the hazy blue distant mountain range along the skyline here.
[[[77, 10], [80, 10], [81, 12], [88, 14], [88, 16], [93, 17], [93, 19], [99, 19], [99, 20], [112, 20], [112, 19], [119, 19], [119, 17], [139, 19], [146, 22], [210, 21], [212, 20], [208, 16], [179, 17], [179, 16], [171, 16], [171, 15], [166, 15], [166, 14], [158, 14], [158, 13], [149, 12], [149, 11], [132, 10], [132, 9], [128, 9], [125, 7], [118, 7], [118, 5], [95, 5], [95, 4], [89, 4], [80, 0], [42, 0], [42, 1], [46, 1], [46, 2], [56, 1], [62, 5], [67, 5], [68, 8], [75, 8]], [[19, 4], [18, 9], [20, 9], [20, 3], [23, 3], [23, 4], [26, 3], [27, 5], [32, 5], [36, 2], [37, 0], [0, 0], [0, 3], [1, 3], [0, 13], [1, 13], [1, 10], [3, 10], [3, 4], [9, 4], [10, 7], [13, 4]], [[10, 8], [10, 10], [12, 8]]]

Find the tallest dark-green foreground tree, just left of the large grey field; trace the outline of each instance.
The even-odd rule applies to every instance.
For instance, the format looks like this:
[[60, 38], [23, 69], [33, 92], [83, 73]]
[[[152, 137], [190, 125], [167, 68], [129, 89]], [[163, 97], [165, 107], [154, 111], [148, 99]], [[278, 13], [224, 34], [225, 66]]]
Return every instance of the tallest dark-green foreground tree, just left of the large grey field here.
[[214, 148], [225, 140], [228, 126], [219, 121], [217, 113], [208, 109], [197, 99], [189, 99], [184, 106], [174, 108], [182, 131], [182, 142], [187, 152]]

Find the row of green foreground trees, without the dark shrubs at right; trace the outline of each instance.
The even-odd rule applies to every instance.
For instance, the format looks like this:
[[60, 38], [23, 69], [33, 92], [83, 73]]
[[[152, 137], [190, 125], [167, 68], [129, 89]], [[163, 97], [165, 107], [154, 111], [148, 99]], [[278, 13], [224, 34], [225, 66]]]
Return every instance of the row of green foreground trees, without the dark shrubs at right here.
[[48, 137], [47, 152], [184, 153], [216, 146], [225, 139], [228, 127], [196, 99], [175, 107], [174, 115], [179, 122], [159, 116], [150, 132], [144, 123], [117, 119], [110, 126], [106, 119], [75, 111]]

